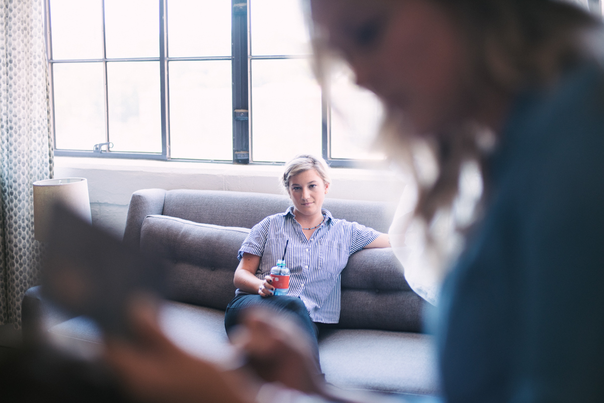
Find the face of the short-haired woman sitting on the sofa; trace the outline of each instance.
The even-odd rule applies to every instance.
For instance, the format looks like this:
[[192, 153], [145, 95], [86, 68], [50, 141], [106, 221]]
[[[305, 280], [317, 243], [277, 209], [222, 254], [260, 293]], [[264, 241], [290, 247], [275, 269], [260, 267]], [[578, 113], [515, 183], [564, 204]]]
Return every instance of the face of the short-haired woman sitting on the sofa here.
[[321, 215], [321, 206], [329, 189], [316, 170], [307, 170], [289, 179], [288, 193], [294, 202], [295, 214]]

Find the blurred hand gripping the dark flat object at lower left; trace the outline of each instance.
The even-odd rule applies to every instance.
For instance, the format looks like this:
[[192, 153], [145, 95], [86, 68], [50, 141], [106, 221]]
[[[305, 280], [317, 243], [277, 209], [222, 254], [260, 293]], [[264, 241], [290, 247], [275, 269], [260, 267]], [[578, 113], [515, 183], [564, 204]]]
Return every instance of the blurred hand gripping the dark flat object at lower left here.
[[224, 372], [188, 355], [161, 331], [148, 300], [131, 304], [137, 343], [109, 338], [106, 360], [127, 392], [144, 402], [252, 402], [260, 385], [243, 371]]

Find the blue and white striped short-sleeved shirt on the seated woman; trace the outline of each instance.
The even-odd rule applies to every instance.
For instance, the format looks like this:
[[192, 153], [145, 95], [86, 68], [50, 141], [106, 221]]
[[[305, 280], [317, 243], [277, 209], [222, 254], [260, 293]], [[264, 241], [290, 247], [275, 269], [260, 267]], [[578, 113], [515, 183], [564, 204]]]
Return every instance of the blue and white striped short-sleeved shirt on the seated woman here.
[[[338, 323], [340, 312], [340, 273], [348, 258], [373, 242], [381, 233], [359, 223], [333, 218], [326, 209], [325, 223], [318, 227], [310, 240], [294, 219], [294, 207], [270, 215], [256, 224], [239, 249], [260, 256], [255, 276], [261, 280], [271, 274], [271, 267], [283, 257], [289, 240], [286, 265], [290, 270], [288, 295], [300, 297], [313, 322]], [[237, 289], [236, 295], [245, 294]]]

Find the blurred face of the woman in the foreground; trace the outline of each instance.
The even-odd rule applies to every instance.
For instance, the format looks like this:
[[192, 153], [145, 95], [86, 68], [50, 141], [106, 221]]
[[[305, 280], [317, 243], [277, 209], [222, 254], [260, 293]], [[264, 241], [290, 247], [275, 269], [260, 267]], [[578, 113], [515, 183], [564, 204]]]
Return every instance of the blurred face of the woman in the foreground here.
[[310, 0], [315, 24], [345, 57], [357, 83], [405, 113], [418, 134], [466, 113], [466, 49], [431, 0]]

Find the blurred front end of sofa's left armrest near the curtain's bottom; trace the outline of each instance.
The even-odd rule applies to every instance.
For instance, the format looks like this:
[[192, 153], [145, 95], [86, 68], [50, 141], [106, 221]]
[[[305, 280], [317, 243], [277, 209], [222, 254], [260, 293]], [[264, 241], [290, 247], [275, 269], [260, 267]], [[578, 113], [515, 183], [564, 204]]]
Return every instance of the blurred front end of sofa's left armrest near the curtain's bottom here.
[[40, 285], [25, 291], [21, 302], [21, 327], [23, 340], [26, 343], [40, 340], [42, 334], [48, 329], [69, 319], [71, 317], [56, 308], [42, 295]]

